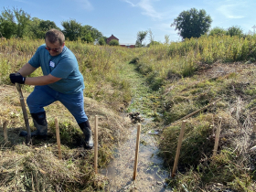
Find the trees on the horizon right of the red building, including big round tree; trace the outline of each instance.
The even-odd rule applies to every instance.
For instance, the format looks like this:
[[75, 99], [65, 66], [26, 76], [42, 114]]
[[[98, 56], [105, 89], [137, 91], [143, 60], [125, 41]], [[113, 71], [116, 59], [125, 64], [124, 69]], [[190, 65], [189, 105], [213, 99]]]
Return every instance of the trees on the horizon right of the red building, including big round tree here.
[[[246, 37], [239, 26], [232, 26], [227, 29], [222, 27], [214, 27], [210, 29], [212, 19], [204, 9], [197, 10], [191, 8], [190, 10], [181, 12], [171, 24], [170, 27], [175, 27], [177, 34], [182, 37], [183, 40], [186, 38], [197, 38], [201, 36], [238, 36]], [[145, 44], [144, 40], [149, 36], [149, 44]], [[165, 43], [169, 43], [169, 36], [165, 35]], [[150, 47], [152, 45], [160, 44], [154, 40], [152, 31], [145, 30], [137, 33], [136, 47]]]

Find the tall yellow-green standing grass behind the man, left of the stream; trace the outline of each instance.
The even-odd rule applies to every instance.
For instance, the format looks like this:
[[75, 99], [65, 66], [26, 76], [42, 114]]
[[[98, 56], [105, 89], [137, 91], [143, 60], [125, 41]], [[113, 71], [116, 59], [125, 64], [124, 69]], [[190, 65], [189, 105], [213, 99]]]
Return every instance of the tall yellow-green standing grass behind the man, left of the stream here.
[[[12, 38], [0, 41], [0, 84], [10, 84], [8, 76], [20, 69], [33, 56], [43, 40]], [[66, 41], [66, 46], [76, 55], [84, 77], [84, 94], [97, 101], [115, 103], [131, 100], [130, 87], [122, 80], [119, 69], [132, 59], [131, 49], [100, 47], [81, 41]], [[37, 69], [30, 77], [42, 75]]]

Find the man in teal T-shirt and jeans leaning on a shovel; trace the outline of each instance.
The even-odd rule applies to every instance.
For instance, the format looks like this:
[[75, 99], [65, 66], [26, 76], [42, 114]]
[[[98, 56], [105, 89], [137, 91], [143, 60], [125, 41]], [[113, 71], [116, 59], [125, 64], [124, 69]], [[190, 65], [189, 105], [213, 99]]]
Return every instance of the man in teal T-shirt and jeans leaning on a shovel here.
[[[44, 76], [26, 78], [41, 67]], [[27, 97], [27, 106], [37, 130], [31, 136], [46, 136], [48, 123], [45, 106], [60, 101], [75, 117], [85, 136], [85, 148], [93, 147], [91, 126], [84, 112], [83, 77], [75, 55], [65, 46], [65, 37], [57, 29], [46, 33], [45, 44], [37, 48], [35, 55], [19, 69], [10, 74], [12, 83], [35, 85]], [[21, 136], [27, 136], [22, 131]]]

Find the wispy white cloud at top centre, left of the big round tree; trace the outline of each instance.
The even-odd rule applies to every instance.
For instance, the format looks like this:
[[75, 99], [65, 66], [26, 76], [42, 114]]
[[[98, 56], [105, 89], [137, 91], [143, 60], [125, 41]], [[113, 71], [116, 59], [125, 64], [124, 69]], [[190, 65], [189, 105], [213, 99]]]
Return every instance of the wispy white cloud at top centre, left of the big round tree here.
[[157, 0], [139, 0], [138, 3], [134, 4], [131, 0], [123, 0], [124, 2], [132, 5], [133, 7], [139, 7], [143, 9], [142, 14], [150, 16], [152, 18], [162, 19], [165, 14], [155, 11], [153, 2]]

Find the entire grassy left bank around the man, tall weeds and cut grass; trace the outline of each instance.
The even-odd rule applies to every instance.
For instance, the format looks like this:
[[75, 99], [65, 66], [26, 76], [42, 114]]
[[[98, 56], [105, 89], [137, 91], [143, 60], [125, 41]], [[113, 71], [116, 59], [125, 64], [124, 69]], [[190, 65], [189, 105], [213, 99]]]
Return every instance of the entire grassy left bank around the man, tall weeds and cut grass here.
[[[32, 146], [24, 144], [18, 133], [25, 129], [23, 114], [15, 86], [8, 74], [19, 69], [43, 41], [11, 39], [0, 42], [0, 190], [1, 191], [91, 191], [103, 185], [106, 178], [93, 172], [93, 150], [80, 147], [82, 133], [70, 113], [59, 102], [46, 107], [49, 137], [33, 139]], [[94, 47], [80, 42], [67, 42], [74, 49], [80, 70], [85, 78], [85, 112], [94, 128], [94, 116], [99, 116], [99, 166], [112, 158], [114, 144], [122, 142], [127, 134], [128, 117], [117, 111], [131, 100], [129, 85], [119, 76], [129, 50], [112, 47]], [[124, 51], [125, 50], [125, 51]], [[103, 67], [103, 68], [102, 68]], [[36, 70], [31, 76], [41, 75]], [[25, 100], [33, 86], [24, 86]], [[90, 98], [89, 98], [90, 97]], [[32, 131], [35, 129], [29, 115]], [[59, 119], [63, 159], [58, 159], [54, 119]], [[3, 126], [7, 122], [9, 142], [5, 143]], [[59, 188], [59, 189], [58, 189]]]

